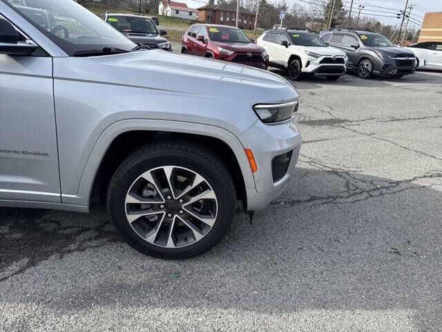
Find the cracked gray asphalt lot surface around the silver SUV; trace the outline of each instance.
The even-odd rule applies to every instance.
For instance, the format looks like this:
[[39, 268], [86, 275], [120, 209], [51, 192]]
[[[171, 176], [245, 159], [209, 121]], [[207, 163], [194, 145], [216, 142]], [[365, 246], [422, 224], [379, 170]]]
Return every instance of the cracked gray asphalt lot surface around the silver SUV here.
[[0, 331], [439, 330], [442, 73], [294, 84], [289, 186], [200, 257], [132, 250], [104, 206], [0, 208]]

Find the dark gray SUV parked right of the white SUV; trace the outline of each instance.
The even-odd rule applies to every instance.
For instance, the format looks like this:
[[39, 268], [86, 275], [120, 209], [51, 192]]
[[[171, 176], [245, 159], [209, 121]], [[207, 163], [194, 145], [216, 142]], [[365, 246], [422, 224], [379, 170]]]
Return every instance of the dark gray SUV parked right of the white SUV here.
[[356, 71], [361, 78], [372, 75], [403, 77], [414, 73], [414, 54], [394, 46], [374, 30], [336, 28], [321, 31], [319, 36], [330, 46], [347, 53], [347, 69]]

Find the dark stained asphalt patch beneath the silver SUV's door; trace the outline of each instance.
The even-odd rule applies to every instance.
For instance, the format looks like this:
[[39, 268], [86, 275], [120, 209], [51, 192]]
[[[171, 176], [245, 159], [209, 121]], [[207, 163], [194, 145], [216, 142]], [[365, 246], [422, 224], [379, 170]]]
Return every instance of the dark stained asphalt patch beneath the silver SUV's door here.
[[[64, 226], [57, 220], [41, 219], [46, 212], [44, 210], [39, 212], [20, 210], [14, 214], [17, 211], [17, 209], [0, 210], [0, 216], [1, 214], [19, 216], [19, 220], [15, 219], [7, 225], [2, 225], [8, 231], [0, 232], [0, 243], [2, 243], [0, 282], [26, 273], [30, 268], [57, 255], [58, 259], [63, 259], [73, 252], [83, 252], [121, 241], [111, 227], [110, 221], [93, 226]], [[8, 275], [1, 276], [10, 266], [23, 260], [27, 260], [26, 264]]]

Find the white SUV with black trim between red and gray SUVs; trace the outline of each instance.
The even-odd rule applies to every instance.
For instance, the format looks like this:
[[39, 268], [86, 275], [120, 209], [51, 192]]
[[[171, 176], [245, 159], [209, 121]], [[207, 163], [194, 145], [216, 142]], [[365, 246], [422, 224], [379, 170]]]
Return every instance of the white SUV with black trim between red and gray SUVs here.
[[309, 30], [268, 30], [256, 44], [269, 53], [269, 66], [287, 69], [291, 80], [300, 80], [306, 74], [337, 80], [346, 72], [347, 55]]

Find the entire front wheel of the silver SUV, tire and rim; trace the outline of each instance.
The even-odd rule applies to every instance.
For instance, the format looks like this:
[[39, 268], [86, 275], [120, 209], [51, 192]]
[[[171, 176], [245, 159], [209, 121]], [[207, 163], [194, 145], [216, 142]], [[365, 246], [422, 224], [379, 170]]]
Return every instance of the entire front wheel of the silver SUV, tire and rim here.
[[193, 142], [164, 141], [128, 156], [108, 189], [108, 211], [126, 242], [146, 255], [199, 255], [229, 230], [236, 194], [226, 165]]

